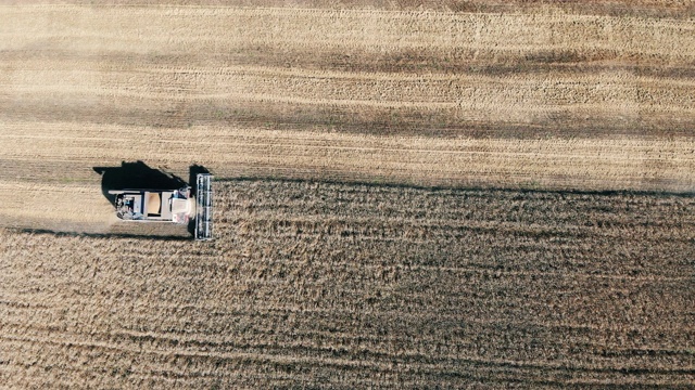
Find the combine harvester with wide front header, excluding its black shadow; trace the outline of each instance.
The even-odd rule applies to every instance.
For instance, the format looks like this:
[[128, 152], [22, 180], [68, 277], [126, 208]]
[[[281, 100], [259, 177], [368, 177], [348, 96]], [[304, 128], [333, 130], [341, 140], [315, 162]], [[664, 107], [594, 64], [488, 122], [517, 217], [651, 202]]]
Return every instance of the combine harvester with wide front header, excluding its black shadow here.
[[194, 218], [197, 240], [213, 238], [213, 176], [195, 177], [195, 193], [191, 187], [178, 190], [116, 190], [116, 216], [125, 221], [169, 222], [188, 224]]

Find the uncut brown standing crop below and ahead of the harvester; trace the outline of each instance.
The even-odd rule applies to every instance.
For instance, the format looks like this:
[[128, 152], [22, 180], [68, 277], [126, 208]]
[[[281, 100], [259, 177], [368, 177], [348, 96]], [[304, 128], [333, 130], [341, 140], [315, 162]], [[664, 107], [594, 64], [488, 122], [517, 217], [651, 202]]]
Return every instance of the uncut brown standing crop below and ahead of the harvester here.
[[22, 387], [687, 388], [695, 199], [217, 183], [217, 239], [2, 231]]

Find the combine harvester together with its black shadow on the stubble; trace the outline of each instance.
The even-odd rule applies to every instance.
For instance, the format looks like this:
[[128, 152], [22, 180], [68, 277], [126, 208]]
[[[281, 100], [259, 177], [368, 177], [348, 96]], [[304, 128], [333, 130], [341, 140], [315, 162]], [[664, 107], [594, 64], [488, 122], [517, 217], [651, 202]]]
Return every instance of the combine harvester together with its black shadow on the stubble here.
[[190, 166], [188, 183], [140, 160], [93, 170], [101, 174], [101, 192], [122, 220], [188, 224], [195, 239], [212, 239], [213, 176], [205, 167]]

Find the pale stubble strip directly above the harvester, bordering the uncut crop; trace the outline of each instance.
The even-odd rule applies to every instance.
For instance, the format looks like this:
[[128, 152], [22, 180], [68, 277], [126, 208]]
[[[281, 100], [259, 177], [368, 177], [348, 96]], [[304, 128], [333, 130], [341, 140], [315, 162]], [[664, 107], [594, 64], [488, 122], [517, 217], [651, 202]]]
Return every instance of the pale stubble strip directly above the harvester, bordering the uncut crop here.
[[[0, 130], [3, 160], [31, 169], [36, 153], [54, 169], [26, 172], [53, 182], [62, 177], [94, 184], [93, 166], [148, 156], [185, 176], [190, 156], [224, 178], [286, 177], [333, 181], [383, 181], [440, 186], [691, 191], [695, 146], [690, 139], [659, 138], [442, 140], [340, 132], [200, 126], [147, 128], [71, 122], [9, 122]], [[127, 147], [121, 147], [127, 145]], [[76, 160], [79, 159], [79, 160]], [[65, 160], [75, 160], [66, 168]], [[25, 162], [23, 162], [25, 161]], [[218, 167], [218, 168], [217, 168]], [[71, 169], [61, 172], [61, 169]], [[18, 169], [23, 171], [24, 169]], [[15, 180], [17, 170], [3, 171]]]

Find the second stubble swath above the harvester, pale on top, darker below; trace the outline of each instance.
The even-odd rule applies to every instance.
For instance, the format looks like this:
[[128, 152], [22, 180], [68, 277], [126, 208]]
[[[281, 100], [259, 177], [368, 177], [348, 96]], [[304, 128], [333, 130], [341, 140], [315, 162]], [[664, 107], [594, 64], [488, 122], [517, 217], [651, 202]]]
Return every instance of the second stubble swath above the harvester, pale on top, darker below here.
[[[144, 126], [305, 123], [353, 132], [388, 129], [502, 138], [658, 135], [664, 128], [672, 134], [691, 134], [688, 126], [695, 121], [687, 78], [634, 76], [612, 67], [594, 69], [590, 76], [442, 77], [409, 72], [364, 77], [351, 72], [337, 77], [325, 69], [254, 74], [251, 67], [230, 73], [219, 64], [223, 68], [189, 65], [160, 72], [152, 65], [154, 69], [144, 72], [87, 72], [91, 77], [79, 84], [61, 75], [75, 73], [80, 63], [60, 66], [65, 70], [53, 72], [53, 78], [61, 80], [58, 84], [45, 79], [43, 70], [11, 73], [5, 116], [30, 115], [39, 120], [72, 116]], [[37, 100], [40, 95], [61, 96], [63, 102], [46, 104]], [[143, 110], [143, 104], [151, 108]]]

